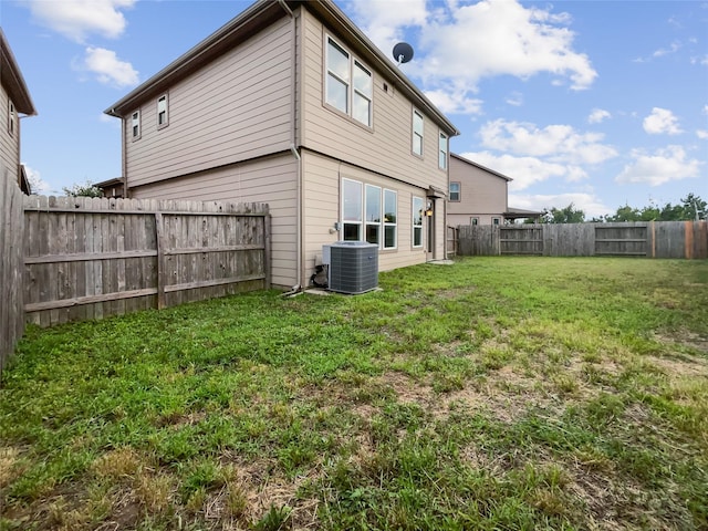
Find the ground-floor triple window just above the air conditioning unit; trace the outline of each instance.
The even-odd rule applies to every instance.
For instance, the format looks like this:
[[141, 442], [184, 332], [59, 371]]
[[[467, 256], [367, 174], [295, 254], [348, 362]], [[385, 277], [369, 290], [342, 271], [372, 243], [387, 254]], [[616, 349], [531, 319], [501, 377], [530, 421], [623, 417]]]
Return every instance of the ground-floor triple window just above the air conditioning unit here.
[[378, 186], [342, 179], [342, 239], [395, 249], [398, 239], [396, 201], [397, 194], [393, 190], [384, 189], [382, 196]]

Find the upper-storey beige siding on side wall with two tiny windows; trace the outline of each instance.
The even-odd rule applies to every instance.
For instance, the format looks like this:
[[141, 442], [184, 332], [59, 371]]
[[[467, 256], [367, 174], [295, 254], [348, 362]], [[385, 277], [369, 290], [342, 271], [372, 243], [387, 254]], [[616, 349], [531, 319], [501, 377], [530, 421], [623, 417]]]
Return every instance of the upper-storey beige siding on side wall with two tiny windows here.
[[173, 86], [169, 122], [157, 128], [157, 97], [140, 111], [142, 135], [131, 137], [129, 186], [288, 149], [292, 142], [292, 25], [283, 18]]

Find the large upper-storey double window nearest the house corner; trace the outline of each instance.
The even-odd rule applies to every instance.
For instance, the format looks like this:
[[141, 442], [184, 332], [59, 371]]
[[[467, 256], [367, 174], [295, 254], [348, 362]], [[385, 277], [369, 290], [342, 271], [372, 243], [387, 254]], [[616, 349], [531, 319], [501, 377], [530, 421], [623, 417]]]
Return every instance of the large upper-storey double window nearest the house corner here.
[[326, 65], [326, 103], [371, 127], [372, 72], [331, 37], [327, 37]]

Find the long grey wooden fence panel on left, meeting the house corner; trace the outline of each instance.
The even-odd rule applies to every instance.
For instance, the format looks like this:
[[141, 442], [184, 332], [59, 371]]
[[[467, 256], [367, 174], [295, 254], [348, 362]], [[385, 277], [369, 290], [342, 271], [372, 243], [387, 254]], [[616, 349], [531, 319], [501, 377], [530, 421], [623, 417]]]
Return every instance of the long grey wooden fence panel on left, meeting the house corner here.
[[24, 226], [41, 326], [270, 287], [267, 205], [30, 196]]

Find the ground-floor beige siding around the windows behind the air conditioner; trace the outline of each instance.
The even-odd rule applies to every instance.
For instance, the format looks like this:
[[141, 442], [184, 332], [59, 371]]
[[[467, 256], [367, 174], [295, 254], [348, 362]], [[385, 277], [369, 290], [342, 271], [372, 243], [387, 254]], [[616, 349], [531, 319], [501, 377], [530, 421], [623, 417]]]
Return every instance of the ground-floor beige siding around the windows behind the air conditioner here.
[[[386, 188], [397, 194], [398, 246], [396, 250], [379, 251], [378, 269], [387, 271], [425, 262], [425, 247], [413, 247], [412, 215], [413, 197], [417, 196], [425, 200], [425, 190], [310, 152], [303, 152], [302, 162], [303, 207], [306, 212], [303, 236], [305, 282], [314, 271], [316, 259], [322, 256], [322, 246], [341, 239], [340, 232], [330, 229], [334, 228], [335, 222], [341, 221], [342, 178], [379, 186], [382, 189]], [[440, 216], [438, 219], [439, 249], [435, 258], [444, 258], [441, 235], [445, 222], [444, 217]], [[428, 254], [428, 258], [433, 259], [433, 253]]]

